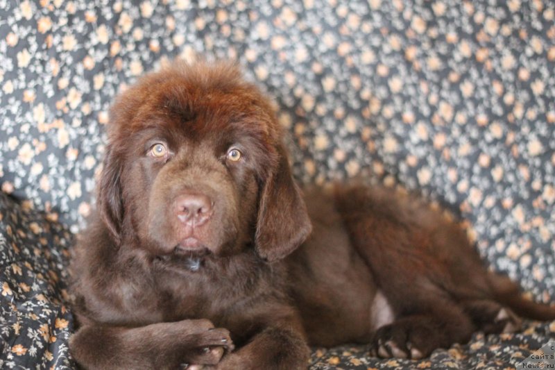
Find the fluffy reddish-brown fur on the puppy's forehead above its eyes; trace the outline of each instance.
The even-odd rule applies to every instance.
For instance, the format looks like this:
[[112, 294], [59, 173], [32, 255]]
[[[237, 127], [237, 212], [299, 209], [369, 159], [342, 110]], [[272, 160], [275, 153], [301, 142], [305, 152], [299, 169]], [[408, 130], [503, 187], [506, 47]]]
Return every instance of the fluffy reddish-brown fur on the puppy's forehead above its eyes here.
[[169, 76], [157, 81], [149, 86], [148, 94], [142, 94], [130, 121], [132, 131], [151, 126], [187, 135], [243, 131], [261, 137], [275, 136], [270, 103], [242, 80], [198, 83], [183, 76]]

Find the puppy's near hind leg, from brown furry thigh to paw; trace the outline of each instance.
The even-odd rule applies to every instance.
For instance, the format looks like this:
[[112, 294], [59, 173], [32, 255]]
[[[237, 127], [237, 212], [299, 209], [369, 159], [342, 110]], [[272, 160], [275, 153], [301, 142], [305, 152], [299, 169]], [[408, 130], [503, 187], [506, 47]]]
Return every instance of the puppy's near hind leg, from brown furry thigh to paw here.
[[[453, 256], [437, 250], [441, 246], [436, 239], [445, 230], [438, 234], [436, 226], [445, 226], [445, 221], [418, 203], [398, 201], [386, 190], [343, 189], [336, 203], [352, 246], [393, 310], [393, 322], [376, 328], [371, 351], [384, 358], [422, 358], [435, 348], [467, 342], [476, 327], [446, 289], [459, 283], [451, 276]], [[456, 269], [475, 264], [467, 260], [459, 261]]]

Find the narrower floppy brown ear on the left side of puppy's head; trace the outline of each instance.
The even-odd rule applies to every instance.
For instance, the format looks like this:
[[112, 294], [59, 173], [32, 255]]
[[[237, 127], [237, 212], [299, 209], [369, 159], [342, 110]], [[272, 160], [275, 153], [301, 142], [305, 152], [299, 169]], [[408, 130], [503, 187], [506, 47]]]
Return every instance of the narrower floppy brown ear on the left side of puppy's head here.
[[123, 223], [123, 198], [121, 196], [121, 161], [114, 155], [110, 145], [106, 147], [104, 164], [96, 201], [100, 217], [116, 244], [121, 242]]

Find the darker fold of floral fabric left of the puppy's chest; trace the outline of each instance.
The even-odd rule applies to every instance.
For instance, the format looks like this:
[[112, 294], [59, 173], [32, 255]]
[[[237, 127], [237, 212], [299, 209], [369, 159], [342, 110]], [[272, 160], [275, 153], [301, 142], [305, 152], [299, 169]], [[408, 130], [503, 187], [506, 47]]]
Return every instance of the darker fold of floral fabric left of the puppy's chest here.
[[72, 369], [71, 233], [0, 193], [0, 369]]

